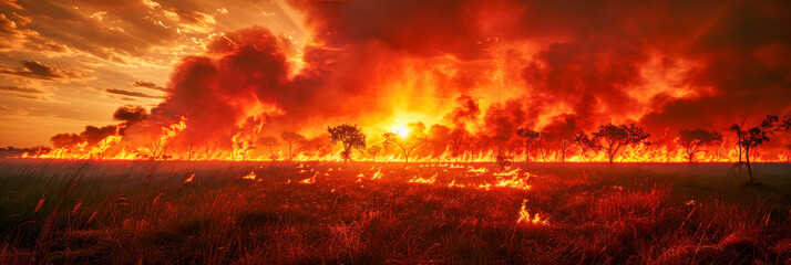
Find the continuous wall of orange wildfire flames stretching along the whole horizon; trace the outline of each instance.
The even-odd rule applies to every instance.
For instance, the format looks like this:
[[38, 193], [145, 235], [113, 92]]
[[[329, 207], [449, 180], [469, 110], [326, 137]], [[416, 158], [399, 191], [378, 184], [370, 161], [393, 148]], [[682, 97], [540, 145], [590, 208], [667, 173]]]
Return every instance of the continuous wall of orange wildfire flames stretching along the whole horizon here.
[[[122, 134], [123, 126], [119, 126], [114, 134], [106, 136], [104, 139], [91, 144], [89, 141], [75, 142], [70, 146], [64, 146], [60, 148], [54, 148], [52, 150], [41, 150], [32, 153], [23, 153], [23, 158], [53, 158], [53, 159], [109, 159], [109, 160], [230, 160], [230, 161], [273, 161], [273, 160], [285, 160], [289, 161], [342, 161], [339, 151], [332, 150], [331, 145], [327, 146], [307, 146], [297, 144], [289, 147], [285, 145], [271, 144], [271, 148], [257, 148], [256, 142], [258, 136], [261, 134], [264, 128], [264, 123], [257, 123], [254, 126], [249, 126], [246, 130], [238, 131], [234, 134], [229, 139], [229, 146], [216, 146], [205, 145], [198, 146], [193, 142], [179, 141], [179, 136], [187, 129], [187, 119], [185, 117], [178, 117], [176, 121], [162, 126], [158, 128], [158, 134], [152, 138], [148, 142], [142, 142], [138, 140], [127, 140]], [[411, 124], [410, 124], [411, 126]], [[415, 129], [403, 124], [393, 126], [391, 132], [398, 138], [408, 141], [408, 137], [412, 134], [425, 135], [425, 130], [418, 132]], [[497, 149], [496, 142], [493, 141], [482, 141], [477, 142], [473, 140], [475, 136], [466, 136], [468, 139], [460, 141], [460, 145], [453, 144], [454, 139], [451, 140], [432, 140], [431, 136], [417, 140], [417, 142], [404, 142], [407, 149], [401, 148], [382, 148], [381, 151], [386, 152], [376, 159], [376, 155], [366, 155], [360, 151], [361, 155], [356, 155], [358, 161], [383, 161], [383, 162], [399, 162], [404, 161], [405, 156], [409, 156], [410, 162], [438, 162], [430, 165], [420, 165], [420, 167], [443, 167], [449, 169], [460, 169], [466, 168], [468, 172], [471, 173], [487, 173], [489, 169], [485, 167], [473, 167], [463, 166], [461, 162], [495, 162], [495, 161], [527, 161], [531, 162], [607, 162], [609, 161], [609, 156], [605, 149], [578, 149], [577, 147], [565, 147], [571, 148], [568, 150], [557, 150], [549, 148], [546, 142], [541, 142], [542, 146], [536, 146], [533, 149], [525, 149], [524, 144], [518, 139], [512, 139], [514, 142], [512, 145], [511, 151], [503, 155]], [[368, 145], [376, 146], [380, 148], [382, 140], [371, 141]], [[429, 142], [431, 142], [429, 145]], [[449, 142], [445, 145], [445, 142]], [[436, 144], [438, 147], [434, 147]], [[269, 144], [267, 144], [269, 145]], [[260, 146], [260, 145], [259, 145]], [[266, 145], [265, 145], [266, 146]], [[277, 147], [282, 150], [277, 150]], [[267, 146], [269, 147], [269, 146]], [[414, 147], [412, 149], [412, 147]], [[454, 150], [454, 148], [461, 148], [460, 150]], [[575, 149], [577, 148], [577, 149]], [[336, 149], [337, 150], [337, 149]], [[379, 152], [379, 149], [377, 149]], [[525, 152], [530, 150], [530, 152]], [[569, 151], [571, 150], [571, 151]], [[625, 145], [619, 147], [617, 153], [614, 153], [614, 162], [689, 162], [689, 149], [678, 147], [678, 141], [670, 141], [667, 144], [637, 144], [637, 145]], [[702, 146], [695, 149], [696, 153], [692, 156], [695, 161], [699, 162], [732, 162], [739, 161], [740, 158], [743, 160], [743, 153], [740, 153], [740, 149], [734, 142], [722, 141], [718, 145]], [[282, 158], [281, 153], [289, 153], [286, 158]], [[791, 153], [791, 152], [790, 152]], [[791, 157], [791, 155], [788, 155]], [[766, 162], [766, 161], [780, 161], [780, 158], [771, 159], [761, 156], [760, 149], [751, 150], [751, 161], [754, 162]], [[302, 169], [307, 172], [308, 166], [300, 163], [297, 168]], [[330, 169], [330, 170], [340, 170]], [[330, 171], [328, 170], [328, 172]], [[505, 172], [499, 172], [496, 176], [505, 177], [518, 174], [518, 169], [513, 169]]]

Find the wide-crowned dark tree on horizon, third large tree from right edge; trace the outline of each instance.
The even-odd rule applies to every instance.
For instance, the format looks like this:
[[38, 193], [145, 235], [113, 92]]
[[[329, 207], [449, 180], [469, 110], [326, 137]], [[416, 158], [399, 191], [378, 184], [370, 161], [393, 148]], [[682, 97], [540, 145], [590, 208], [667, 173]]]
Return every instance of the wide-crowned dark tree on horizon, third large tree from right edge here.
[[615, 156], [623, 146], [636, 145], [644, 141], [650, 135], [643, 131], [643, 128], [636, 127], [635, 124], [626, 125], [600, 125], [598, 131], [593, 132], [593, 136], [603, 142], [602, 148], [607, 151], [609, 163], [613, 165]]

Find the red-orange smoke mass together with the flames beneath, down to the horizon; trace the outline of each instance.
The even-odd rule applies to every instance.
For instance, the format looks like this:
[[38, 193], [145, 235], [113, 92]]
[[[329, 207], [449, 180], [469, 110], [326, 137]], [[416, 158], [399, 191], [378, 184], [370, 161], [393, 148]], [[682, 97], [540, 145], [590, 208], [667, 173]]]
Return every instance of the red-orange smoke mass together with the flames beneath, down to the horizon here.
[[[307, 140], [295, 159], [331, 160], [338, 149], [325, 128], [353, 123], [369, 146], [391, 130], [423, 135], [415, 161], [605, 161], [569, 139], [636, 123], [651, 145], [627, 146], [616, 161], [681, 162], [681, 129], [721, 131], [743, 113], [791, 113], [791, 29], [774, 26], [791, 22], [784, 1], [291, 4], [312, 30], [305, 47], [260, 26], [219, 34], [173, 70], [151, 114], [119, 109], [123, 126], [58, 135], [51, 153], [60, 155], [45, 156], [85, 157], [117, 136], [105, 152], [119, 158], [270, 159], [285, 157], [275, 156], [284, 151], [276, 137], [296, 131]], [[163, 130], [181, 121], [177, 132]], [[518, 128], [545, 137], [525, 153]], [[153, 151], [157, 142], [166, 153]], [[781, 160], [788, 144], [778, 136], [757, 158]], [[726, 134], [698, 160], [733, 161], [733, 150]]]

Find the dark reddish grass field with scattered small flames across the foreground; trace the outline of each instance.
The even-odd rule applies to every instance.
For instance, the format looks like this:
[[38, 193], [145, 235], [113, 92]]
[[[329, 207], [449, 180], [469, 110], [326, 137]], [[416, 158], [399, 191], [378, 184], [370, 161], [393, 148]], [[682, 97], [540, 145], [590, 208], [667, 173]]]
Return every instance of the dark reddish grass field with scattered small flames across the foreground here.
[[0, 264], [791, 263], [791, 166], [0, 160]]

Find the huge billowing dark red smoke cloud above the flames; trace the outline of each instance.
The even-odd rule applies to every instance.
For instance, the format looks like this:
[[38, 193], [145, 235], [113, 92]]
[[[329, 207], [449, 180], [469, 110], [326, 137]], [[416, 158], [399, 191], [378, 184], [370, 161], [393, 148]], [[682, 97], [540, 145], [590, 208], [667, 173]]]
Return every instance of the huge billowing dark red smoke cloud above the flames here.
[[[258, 26], [226, 33], [182, 60], [166, 99], [132, 129], [185, 116], [182, 137], [206, 142], [227, 140], [249, 116], [269, 129], [323, 127], [388, 114], [400, 92], [458, 98], [441, 115], [454, 127], [482, 121], [476, 131], [489, 137], [631, 121], [661, 136], [791, 112], [788, 1], [291, 4], [314, 32], [301, 71], [287, 38]], [[386, 89], [408, 74], [420, 76], [417, 88]]]

